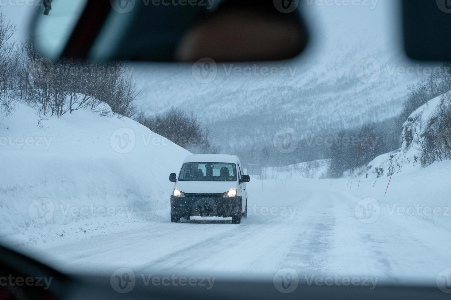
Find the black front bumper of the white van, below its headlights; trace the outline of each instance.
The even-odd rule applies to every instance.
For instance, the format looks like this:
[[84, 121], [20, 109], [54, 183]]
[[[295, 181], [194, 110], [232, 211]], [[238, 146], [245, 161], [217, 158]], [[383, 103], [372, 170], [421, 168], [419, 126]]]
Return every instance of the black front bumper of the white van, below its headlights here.
[[[221, 194], [222, 196], [222, 194]], [[170, 213], [176, 216], [235, 217], [241, 214], [241, 197], [170, 197]]]

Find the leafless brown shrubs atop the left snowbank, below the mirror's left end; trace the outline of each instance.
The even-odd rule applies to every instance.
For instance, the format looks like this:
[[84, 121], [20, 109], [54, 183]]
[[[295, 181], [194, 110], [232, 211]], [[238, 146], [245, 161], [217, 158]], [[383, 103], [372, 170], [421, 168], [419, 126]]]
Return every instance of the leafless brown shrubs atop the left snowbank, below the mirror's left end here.
[[136, 87], [123, 75], [124, 63], [106, 65], [42, 58], [30, 41], [21, 47], [20, 99], [36, 106], [44, 115], [61, 116], [78, 109], [91, 109], [101, 115], [111, 111], [134, 116]]

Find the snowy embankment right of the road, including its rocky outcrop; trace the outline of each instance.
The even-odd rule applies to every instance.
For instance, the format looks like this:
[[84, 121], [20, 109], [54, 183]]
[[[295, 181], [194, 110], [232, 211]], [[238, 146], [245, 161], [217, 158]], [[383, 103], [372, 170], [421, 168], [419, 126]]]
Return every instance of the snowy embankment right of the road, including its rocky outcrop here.
[[423, 167], [419, 145], [419, 137], [441, 105], [439, 96], [415, 110], [403, 125], [401, 148], [376, 157], [363, 175], [348, 173], [343, 188], [362, 199], [377, 199], [381, 214], [418, 218], [426, 221], [425, 226], [451, 231], [451, 161]]

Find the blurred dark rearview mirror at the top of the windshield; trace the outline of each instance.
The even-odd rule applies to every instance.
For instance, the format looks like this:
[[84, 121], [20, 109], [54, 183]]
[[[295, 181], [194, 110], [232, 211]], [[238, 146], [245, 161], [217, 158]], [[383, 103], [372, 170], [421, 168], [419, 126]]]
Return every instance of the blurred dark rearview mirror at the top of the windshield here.
[[53, 60], [281, 60], [307, 44], [299, 7], [287, 0], [58, 0], [39, 11], [32, 39]]

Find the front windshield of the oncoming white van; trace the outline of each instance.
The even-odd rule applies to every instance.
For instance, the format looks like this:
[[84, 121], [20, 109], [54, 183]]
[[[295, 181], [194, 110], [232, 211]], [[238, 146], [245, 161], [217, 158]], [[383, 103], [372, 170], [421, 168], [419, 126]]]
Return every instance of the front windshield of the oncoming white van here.
[[181, 181], [236, 181], [236, 165], [224, 162], [186, 162]]

